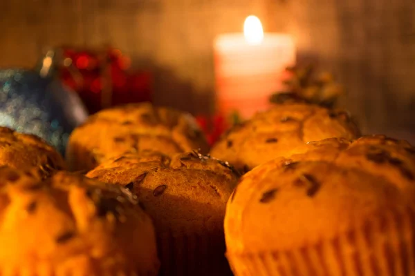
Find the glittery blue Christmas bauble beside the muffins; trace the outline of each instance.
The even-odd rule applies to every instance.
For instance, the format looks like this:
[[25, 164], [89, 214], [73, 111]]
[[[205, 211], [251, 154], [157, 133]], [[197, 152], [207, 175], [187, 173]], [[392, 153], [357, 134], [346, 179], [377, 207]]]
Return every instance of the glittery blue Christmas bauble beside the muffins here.
[[64, 154], [87, 113], [75, 92], [30, 70], [0, 70], [0, 126], [42, 137]]

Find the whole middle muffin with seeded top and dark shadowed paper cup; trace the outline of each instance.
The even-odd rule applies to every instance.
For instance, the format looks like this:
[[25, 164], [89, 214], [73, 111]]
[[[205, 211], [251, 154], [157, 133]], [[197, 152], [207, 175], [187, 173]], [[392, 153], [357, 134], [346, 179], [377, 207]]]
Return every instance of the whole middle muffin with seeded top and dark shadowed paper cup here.
[[239, 177], [228, 163], [190, 152], [127, 154], [87, 177], [138, 195], [154, 219], [162, 275], [228, 275], [224, 257], [225, 205]]

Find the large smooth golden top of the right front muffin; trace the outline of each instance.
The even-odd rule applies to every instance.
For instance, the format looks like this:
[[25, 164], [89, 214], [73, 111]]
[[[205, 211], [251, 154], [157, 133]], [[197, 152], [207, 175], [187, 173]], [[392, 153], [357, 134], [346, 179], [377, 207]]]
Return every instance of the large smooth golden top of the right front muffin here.
[[407, 142], [326, 139], [304, 151], [242, 177], [225, 215], [232, 253], [298, 249], [414, 214], [415, 150]]

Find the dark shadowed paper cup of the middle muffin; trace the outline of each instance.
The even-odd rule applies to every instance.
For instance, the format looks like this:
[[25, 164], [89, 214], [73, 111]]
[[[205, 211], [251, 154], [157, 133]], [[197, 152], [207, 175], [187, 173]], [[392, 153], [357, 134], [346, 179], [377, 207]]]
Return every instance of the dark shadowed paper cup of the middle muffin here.
[[166, 230], [158, 234], [160, 275], [232, 275], [221, 232]]

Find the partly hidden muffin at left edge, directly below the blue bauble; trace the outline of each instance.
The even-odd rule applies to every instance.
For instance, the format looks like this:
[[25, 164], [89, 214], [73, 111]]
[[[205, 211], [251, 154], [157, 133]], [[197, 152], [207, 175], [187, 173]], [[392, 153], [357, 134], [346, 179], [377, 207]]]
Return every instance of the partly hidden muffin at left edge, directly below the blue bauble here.
[[5, 165], [19, 169], [37, 168], [42, 178], [66, 168], [59, 152], [43, 139], [0, 126], [0, 166]]

